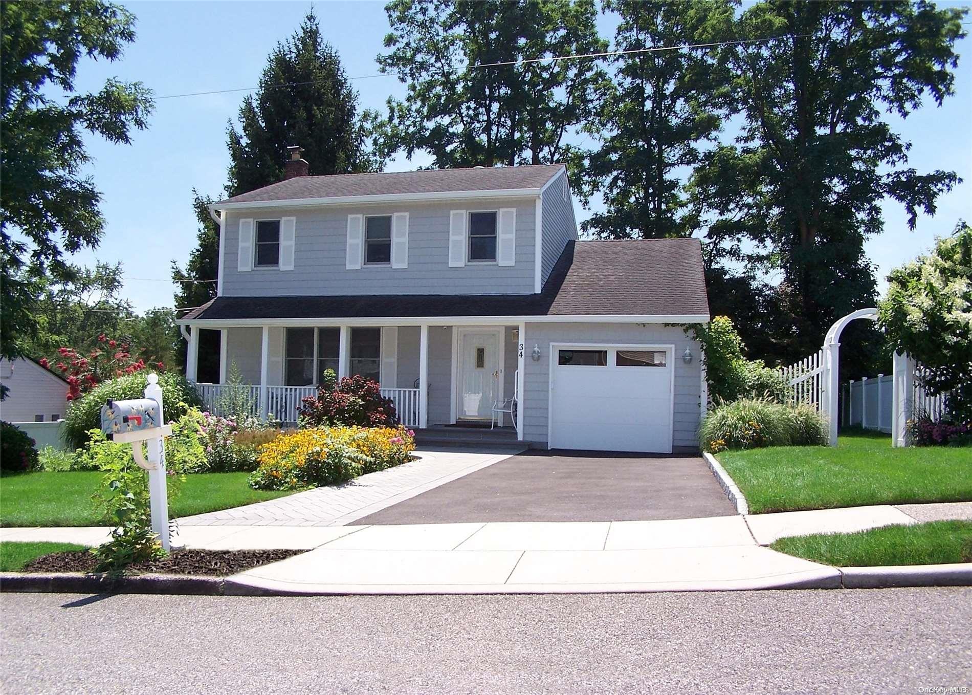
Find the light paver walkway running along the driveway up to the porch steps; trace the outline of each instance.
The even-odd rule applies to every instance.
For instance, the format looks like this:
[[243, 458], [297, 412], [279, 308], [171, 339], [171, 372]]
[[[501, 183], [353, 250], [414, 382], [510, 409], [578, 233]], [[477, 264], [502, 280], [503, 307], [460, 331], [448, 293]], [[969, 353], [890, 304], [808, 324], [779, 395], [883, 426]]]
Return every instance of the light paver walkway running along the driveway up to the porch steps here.
[[342, 526], [519, 453], [522, 446], [428, 448], [418, 461], [378, 470], [341, 485], [210, 511], [179, 519], [181, 526]]

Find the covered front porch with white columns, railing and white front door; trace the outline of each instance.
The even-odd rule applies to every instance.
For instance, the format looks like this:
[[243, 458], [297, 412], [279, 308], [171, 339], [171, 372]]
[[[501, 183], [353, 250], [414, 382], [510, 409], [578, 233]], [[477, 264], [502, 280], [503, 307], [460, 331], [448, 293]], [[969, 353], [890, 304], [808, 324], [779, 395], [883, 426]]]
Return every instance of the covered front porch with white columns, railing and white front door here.
[[[211, 327], [187, 328], [187, 376], [211, 412], [225, 409], [230, 396], [237, 402], [242, 397], [254, 417], [295, 423], [301, 401], [316, 394], [324, 372], [332, 369], [338, 377], [361, 374], [377, 381], [406, 427], [491, 427], [495, 419], [496, 427], [523, 438], [523, 418], [517, 417], [522, 403], [516, 399], [521, 326], [377, 321], [223, 326], [218, 329], [219, 383], [196, 378], [200, 330]], [[495, 406], [506, 412], [494, 412]]]

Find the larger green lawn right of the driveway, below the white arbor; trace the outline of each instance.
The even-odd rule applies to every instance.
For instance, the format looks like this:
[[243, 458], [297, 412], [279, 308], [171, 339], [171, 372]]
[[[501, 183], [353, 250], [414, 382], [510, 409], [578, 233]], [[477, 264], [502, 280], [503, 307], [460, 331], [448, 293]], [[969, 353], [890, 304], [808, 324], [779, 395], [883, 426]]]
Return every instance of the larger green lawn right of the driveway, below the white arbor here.
[[886, 434], [842, 435], [836, 448], [777, 446], [717, 457], [749, 511], [972, 501], [972, 447], [892, 448]]

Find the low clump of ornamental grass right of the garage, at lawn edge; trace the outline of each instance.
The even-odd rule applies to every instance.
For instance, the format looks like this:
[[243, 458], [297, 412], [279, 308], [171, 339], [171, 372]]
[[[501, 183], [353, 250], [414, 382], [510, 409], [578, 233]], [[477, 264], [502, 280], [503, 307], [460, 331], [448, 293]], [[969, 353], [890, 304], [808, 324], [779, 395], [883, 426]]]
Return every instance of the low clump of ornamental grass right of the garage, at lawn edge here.
[[741, 399], [710, 411], [699, 438], [703, 450], [712, 453], [762, 446], [822, 446], [827, 443], [827, 428], [813, 408]]

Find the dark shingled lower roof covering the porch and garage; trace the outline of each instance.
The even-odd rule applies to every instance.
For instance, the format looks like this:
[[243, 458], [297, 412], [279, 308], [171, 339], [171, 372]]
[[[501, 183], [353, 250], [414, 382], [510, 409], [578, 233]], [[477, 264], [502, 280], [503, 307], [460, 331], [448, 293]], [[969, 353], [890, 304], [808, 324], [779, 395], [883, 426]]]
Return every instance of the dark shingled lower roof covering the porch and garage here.
[[180, 321], [486, 316], [708, 317], [702, 245], [572, 241], [538, 295], [218, 296]]

